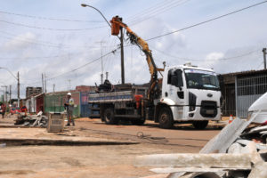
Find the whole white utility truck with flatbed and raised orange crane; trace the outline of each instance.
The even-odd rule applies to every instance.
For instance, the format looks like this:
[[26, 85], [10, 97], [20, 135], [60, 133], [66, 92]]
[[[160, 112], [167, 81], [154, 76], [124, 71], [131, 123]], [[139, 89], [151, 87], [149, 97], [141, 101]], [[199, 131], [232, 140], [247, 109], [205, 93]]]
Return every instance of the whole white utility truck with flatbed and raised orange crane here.
[[209, 120], [221, 119], [223, 100], [213, 69], [190, 63], [158, 69], [149, 45], [140, 36], [117, 16], [110, 22], [112, 35], [117, 36], [120, 28], [125, 28], [131, 43], [145, 53], [150, 83], [130, 85], [125, 90], [109, 87], [104, 92], [89, 94], [89, 103], [100, 106], [103, 122], [117, 124], [126, 118], [134, 125], [142, 125], [146, 119], [153, 119], [162, 128], [171, 128], [174, 123], [192, 123], [195, 128], [204, 129]]

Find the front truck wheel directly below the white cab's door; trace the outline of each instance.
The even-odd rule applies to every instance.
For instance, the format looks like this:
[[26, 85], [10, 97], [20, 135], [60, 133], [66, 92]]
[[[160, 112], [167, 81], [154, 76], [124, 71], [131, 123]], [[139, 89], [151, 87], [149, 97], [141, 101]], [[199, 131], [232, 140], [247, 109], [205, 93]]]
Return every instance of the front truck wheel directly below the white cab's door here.
[[172, 128], [174, 126], [174, 117], [172, 110], [167, 107], [160, 109], [158, 114], [158, 123], [159, 127], [161, 128]]

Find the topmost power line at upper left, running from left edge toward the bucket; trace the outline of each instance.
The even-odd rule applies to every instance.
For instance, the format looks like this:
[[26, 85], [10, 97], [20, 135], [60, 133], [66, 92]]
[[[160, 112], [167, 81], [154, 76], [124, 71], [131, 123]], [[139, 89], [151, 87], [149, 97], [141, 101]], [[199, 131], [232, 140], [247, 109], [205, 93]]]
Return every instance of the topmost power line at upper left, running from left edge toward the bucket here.
[[47, 18], [47, 17], [20, 14], [20, 13], [14, 13], [14, 12], [4, 12], [4, 11], [0, 11], [0, 13], [16, 15], [16, 16], [20, 16], [20, 17], [39, 19], [39, 20], [59, 20], [59, 21], [74, 21], [74, 22], [89, 22], [89, 23], [102, 23], [102, 22], [104, 22], [104, 21], [97, 21], [97, 20], [69, 20], [69, 19]]

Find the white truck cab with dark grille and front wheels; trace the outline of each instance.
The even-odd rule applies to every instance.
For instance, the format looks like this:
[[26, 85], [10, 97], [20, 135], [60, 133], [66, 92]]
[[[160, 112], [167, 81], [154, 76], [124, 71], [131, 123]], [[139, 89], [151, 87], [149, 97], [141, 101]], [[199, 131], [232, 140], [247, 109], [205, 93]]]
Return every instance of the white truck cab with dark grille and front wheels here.
[[[221, 119], [221, 91], [213, 69], [190, 64], [166, 68], [163, 74], [162, 95], [157, 104], [158, 122], [168, 128], [173, 122], [191, 122], [196, 128], [206, 127], [208, 120]], [[169, 109], [167, 111], [167, 108]], [[168, 118], [166, 114], [171, 114]]]

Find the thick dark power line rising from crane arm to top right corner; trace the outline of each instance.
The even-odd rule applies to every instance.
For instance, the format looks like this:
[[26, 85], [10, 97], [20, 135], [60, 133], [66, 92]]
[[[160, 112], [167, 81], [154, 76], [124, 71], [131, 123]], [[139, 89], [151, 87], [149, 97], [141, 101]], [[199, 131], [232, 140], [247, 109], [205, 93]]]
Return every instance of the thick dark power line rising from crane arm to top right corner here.
[[247, 6], [247, 7], [244, 7], [244, 8], [242, 8], [242, 9], [239, 9], [239, 10], [237, 10], [237, 11], [229, 12], [229, 13], [226, 13], [226, 14], [224, 14], [224, 15], [221, 15], [221, 16], [215, 17], [215, 18], [213, 18], [213, 19], [210, 19], [210, 20], [201, 21], [201, 22], [199, 22], [199, 23], [197, 23], [197, 24], [190, 25], [189, 27], [186, 27], [186, 28], [177, 29], [177, 30], [174, 30], [174, 31], [172, 31], [172, 32], [168, 32], [168, 33], [163, 34], [163, 35], [160, 35], [160, 36], [154, 36], [154, 37], [151, 37], [151, 38], [147, 39], [146, 41], [150, 41], [150, 40], [153, 40], [153, 39], [157, 39], [157, 38], [159, 38], [159, 37], [163, 37], [163, 36], [168, 36], [168, 35], [171, 35], [171, 34], [174, 34], [174, 33], [180, 32], [180, 31], [183, 31], [183, 30], [185, 30], [185, 29], [194, 28], [194, 27], [197, 27], [197, 26], [199, 26], [199, 25], [205, 24], [205, 23], [207, 23], [207, 22], [214, 21], [214, 20], [218, 20], [218, 19], [221, 19], [221, 18], [226, 17], [226, 16], [228, 16], [228, 15], [231, 15], [231, 14], [233, 14], [233, 13], [242, 12], [242, 11], [245, 11], [245, 10], [247, 10], [247, 9], [249, 9], [249, 8], [252, 8], [252, 7], [255, 7], [255, 6], [257, 6], [257, 5], [264, 4], [264, 3], [267, 3], [267, 1], [263, 1], [263, 2], [258, 3], [258, 4], [249, 5], [249, 6]]

